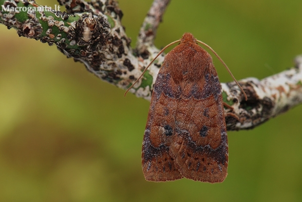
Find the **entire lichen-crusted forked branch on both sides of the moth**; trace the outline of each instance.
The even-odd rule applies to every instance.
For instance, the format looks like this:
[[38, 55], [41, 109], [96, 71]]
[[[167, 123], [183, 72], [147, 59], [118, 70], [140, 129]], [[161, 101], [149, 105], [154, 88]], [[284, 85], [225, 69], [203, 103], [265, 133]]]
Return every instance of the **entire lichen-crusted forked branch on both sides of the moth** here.
[[[21, 37], [35, 38], [57, 48], [67, 57], [85, 64], [104, 81], [127, 89], [159, 50], [153, 41], [170, 0], [154, 0], [139, 32], [135, 50], [121, 24], [123, 16], [114, 0], [58, 0], [67, 12], [39, 6], [34, 0], [0, 0], [0, 23], [14, 28]], [[16, 9], [16, 8], [19, 8]], [[33, 11], [23, 12], [29, 8]], [[43, 8], [42, 10], [37, 10]], [[21, 9], [21, 10], [20, 10]], [[3, 10], [3, 9], [2, 9]], [[131, 92], [151, 99], [155, 78], [164, 60], [160, 55], [134, 85]], [[296, 67], [258, 80], [239, 81], [247, 101], [234, 82], [222, 83], [228, 130], [251, 129], [302, 102], [302, 56]]]

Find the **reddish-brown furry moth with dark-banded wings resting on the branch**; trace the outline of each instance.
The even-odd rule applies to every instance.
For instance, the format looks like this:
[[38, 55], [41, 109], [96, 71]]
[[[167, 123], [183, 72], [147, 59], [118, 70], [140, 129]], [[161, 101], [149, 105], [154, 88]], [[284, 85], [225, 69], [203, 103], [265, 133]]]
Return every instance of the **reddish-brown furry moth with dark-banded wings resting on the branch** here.
[[228, 143], [218, 75], [212, 57], [192, 34], [176, 42], [154, 84], [142, 147], [143, 173], [154, 182], [188, 178], [221, 183], [227, 177]]

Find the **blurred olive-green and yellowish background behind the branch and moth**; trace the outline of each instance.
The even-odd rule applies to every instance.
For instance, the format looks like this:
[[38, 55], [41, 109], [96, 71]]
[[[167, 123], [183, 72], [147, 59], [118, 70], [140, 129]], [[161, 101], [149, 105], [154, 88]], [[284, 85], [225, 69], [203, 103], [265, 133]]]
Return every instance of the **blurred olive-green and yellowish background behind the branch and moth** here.
[[[119, 2], [134, 46], [152, 0]], [[208, 43], [237, 79], [262, 79], [302, 54], [302, 1], [171, 0], [155, 44], [184, 32]], [[231, 81], [214, 62], [221, 82]], [[222, 184], [146, 182], [148, 110], [148, 101], [124, 98], [55, 46], [0, 25], [0, 201], [302, 201], [302, 106], [255, 129], [229, 131]]]

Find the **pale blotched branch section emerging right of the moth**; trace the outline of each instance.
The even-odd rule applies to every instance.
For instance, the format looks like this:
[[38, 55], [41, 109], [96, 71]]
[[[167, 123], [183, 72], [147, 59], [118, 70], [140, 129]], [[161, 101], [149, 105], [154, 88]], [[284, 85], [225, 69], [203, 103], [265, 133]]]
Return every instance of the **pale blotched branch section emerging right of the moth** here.
[[295, 68], [262, 80], [246, 78], [239, 83], [247, 101], [235, 82], [221, 84], [224, 101], [233, 107], [225, 111], [228, 130], [252, 129], [301, 104], [302, 55], [296, 57]]

